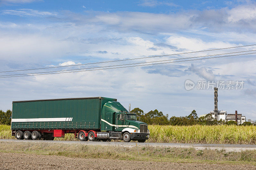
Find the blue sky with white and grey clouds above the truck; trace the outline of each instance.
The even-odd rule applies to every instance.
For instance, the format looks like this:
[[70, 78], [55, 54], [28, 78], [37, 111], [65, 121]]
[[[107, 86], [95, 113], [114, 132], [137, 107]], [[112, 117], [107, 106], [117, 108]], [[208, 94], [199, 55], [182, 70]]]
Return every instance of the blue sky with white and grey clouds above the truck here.
[[[230, 48], [256, 44], [255, 33], [256, 3], [250, 0], [0, 0], [0, 77], [256, 50]], [[229, 49], [204, 51], [218, 48]], [[218, 109], [228, 114], [237, 110], [256, 120], [256, 55], [247, 54], [253, 52], [0, 78], [0, 109], [12, 109], [12, 101], [18, 100], [103, 96], [116, 98], [126, 108], [131, 103], [144, 113], [157, 109], [169, 117], [186, 116], [195, 109], [202, 115], [214, 109], [212, 87], [222, 82]], [[158, 55], [166, 56], [98, 63]], [[97, 64], [3, 72], [88, 63]], [[214, 85], [208, 88], [209, 83]]]

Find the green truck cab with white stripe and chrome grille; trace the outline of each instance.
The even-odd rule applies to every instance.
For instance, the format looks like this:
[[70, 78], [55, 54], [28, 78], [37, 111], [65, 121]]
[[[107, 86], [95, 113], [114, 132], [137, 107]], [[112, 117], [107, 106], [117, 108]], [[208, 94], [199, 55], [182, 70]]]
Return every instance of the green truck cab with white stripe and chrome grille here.
[[123, 139], [124, 142], [145, 142], [149, 138], [148, 124], [138, 121], [136, 114], [128, 112], [117, 101], [103, 105], [101, 131], [108, 132], [110, 139]]

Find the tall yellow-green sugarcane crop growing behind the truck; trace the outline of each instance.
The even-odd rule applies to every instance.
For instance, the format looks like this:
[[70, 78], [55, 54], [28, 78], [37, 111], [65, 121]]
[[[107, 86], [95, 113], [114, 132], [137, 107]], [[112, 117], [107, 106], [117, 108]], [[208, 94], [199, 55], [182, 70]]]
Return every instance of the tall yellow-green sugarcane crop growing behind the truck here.
[[[256, 144], [256, 126], [236, 125], [193, 125], [164, 126], [149, 125], [150, 138], [147, 142], [200, 143], [200, 144]], [[14, 139], [11, 128], [0, 125], [1, 139]], [[77, 140], [73, 134], [55, 140]]]

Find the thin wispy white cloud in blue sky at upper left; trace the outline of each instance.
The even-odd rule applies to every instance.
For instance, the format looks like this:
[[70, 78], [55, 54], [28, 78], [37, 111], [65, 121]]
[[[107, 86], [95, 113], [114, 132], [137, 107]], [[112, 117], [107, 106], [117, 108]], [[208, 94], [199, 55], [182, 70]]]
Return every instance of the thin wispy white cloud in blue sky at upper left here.
[[57, 15], [57, 12], [48, 11], [37, 11], [32, 9], [20, 9], [20, 10], [2, 10], [1, 14], [5, 15], [18, 15], [18, 16], [30, 16], [30, 17], [40, 17], [40, 16], [51, 16]]

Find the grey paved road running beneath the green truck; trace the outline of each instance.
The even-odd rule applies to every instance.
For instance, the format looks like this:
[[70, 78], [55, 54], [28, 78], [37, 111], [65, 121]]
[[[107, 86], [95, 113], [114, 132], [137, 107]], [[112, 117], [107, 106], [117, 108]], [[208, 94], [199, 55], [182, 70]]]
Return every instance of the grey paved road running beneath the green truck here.
[[[45, 142], [45, 143], [63, 143], [63, 144], [87, 144], [87, 145], [109, 145], [109, 146], [136, 146], [135, 142], [92, 142], [92, 141], [47, 141], [47, 140], [17, 140], [0, 139], [0, 142]], [[173, 143], [137, 143], [138, 146], [162, 146], [162, 147], [183, 147], [199, 149], [225, 149], [226, 151], [244, 151], [256, 150], [256, 145], [252, 144], [173, 144]]]

